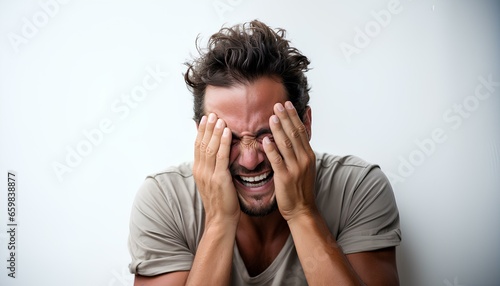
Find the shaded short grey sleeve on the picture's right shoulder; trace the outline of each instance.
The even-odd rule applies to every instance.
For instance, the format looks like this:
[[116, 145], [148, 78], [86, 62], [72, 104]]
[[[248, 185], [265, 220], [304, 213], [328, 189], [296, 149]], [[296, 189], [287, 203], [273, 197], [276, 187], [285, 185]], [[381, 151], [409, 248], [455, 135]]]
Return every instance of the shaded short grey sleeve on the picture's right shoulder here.
[[344, 253], [397, 246], [401, 241], [399, 212], [389, 180], [378, 166], [368, 171], [346, 198], [346, 218], [337, 242]]

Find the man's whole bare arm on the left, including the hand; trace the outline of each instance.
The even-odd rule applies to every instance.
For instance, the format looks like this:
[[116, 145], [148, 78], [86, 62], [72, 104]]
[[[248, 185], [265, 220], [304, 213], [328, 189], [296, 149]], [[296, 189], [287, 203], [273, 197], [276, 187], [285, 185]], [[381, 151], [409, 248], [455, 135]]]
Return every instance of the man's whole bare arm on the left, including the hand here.
[[205, 209], [205, 229], [190, 271], [137, 275], [135, 286], [229, 285], [240, 207], [228, 170], [231, 131], [204, 116], [195, 142], [193, 176]]

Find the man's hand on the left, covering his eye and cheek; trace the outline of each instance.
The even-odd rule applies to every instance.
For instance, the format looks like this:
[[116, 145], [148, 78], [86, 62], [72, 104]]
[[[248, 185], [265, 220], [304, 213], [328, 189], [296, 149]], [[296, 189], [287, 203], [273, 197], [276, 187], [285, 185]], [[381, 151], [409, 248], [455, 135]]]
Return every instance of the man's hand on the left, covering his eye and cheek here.
[[240, 206], [229, 172], [231, 131], [211, 113], [198, 126], [194, 148], [193, 176], [198, 186], [207, 223], [227, 220], [237, 223]]

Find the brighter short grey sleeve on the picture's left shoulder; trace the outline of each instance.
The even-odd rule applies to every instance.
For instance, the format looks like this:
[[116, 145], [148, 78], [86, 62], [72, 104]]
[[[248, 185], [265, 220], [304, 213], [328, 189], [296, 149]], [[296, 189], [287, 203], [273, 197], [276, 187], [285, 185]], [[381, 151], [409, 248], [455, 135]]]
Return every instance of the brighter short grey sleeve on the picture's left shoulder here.
[[176, 223], [172, 196], [148, 177], [139, 189], [130, 217], [128, 248], [133, 274], [153, 276], [189, 270], [194, 259], [183, 231]]

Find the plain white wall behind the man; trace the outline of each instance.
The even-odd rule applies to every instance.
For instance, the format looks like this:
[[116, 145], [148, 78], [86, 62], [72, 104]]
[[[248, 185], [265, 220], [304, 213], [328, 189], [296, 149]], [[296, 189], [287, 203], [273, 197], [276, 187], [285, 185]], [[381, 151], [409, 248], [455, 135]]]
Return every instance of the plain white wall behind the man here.
[[[499, 8], [0, 1], [0, 284], [132, 285], [135, 193], [147, 174], [192, 159], [182, 63], [198, 34], [258, 18], [287, 29], [312, 61], [313, 147], [358, 155], [391, 178], [402, 285], [498, 285]], [[16, 279], [6, 268], [8, 170], [18, 177]]]

